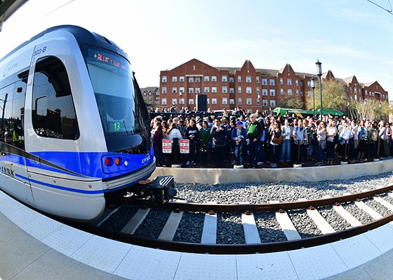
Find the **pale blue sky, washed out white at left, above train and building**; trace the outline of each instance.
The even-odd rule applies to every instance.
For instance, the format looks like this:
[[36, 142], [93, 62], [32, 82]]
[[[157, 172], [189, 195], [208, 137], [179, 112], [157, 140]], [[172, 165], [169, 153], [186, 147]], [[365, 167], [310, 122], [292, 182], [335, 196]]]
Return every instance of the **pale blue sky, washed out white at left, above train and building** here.
[[[390, 8], [388, 0], [374, 0]], [[25, 22], [29, 22], [28, 25]], [[211, 66], [357, 76], [393, 98], [393, 15], [367, 0], [30, 0], [0, 32], [0, 57], [54, 25], [80, 25], [107, 36], [131, 57], [141, 87], [159, 71], [196, 58]]]

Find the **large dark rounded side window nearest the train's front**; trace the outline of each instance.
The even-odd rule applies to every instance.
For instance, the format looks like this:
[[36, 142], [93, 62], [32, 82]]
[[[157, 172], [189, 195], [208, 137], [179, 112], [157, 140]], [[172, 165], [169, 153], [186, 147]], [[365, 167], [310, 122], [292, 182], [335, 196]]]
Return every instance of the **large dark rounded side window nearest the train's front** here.
[[78, 139], [71, 86], [64, 64], [57, 57], [44, 57], [34, 71], [32, 122], [41, 137]]

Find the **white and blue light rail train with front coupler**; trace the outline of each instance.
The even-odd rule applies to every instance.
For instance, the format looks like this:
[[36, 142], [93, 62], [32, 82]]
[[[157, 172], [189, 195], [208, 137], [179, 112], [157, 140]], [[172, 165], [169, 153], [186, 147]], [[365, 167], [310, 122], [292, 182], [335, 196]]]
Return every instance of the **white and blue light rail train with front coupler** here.
[[52, 27], [6, 55], [0, 117], [0, 188], [36, 209], [91, 221], [117, 197], [175, 195], [173, 177], [145, 181], [147, 108], [128, 56], [104, 36]]

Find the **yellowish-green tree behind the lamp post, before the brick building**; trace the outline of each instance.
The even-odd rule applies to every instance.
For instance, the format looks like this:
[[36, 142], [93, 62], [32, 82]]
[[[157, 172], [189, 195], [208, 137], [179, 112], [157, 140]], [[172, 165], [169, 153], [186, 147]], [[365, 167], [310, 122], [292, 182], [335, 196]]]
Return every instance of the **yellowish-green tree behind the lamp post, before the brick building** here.
[[[315, 87], [315, 110], [321, 108], [319, 93], [319, 83]], [[307, 92], [306, 94], [306, 108], [307, 110], [313, 109], [313, 98], [312, 98], [312, 90]], [[342, 87], [342, 83], [338, 83], [335, 80], [326, 80], [322, 83], [322, 106], [323, 109], [335, 109], [335, 110], [344, 110], [347, 106], [348, 97], [344, 92], [344, 87]]]

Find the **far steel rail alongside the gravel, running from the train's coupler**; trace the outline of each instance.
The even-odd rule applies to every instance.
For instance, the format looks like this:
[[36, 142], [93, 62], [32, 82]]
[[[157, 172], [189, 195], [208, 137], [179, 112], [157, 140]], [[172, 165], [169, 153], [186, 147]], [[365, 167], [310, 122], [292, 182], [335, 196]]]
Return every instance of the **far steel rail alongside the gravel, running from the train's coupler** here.
[[342, 204], [345, 202], [354, 202], [366, 197], [373, 197], [381, 193], [387, 193], [393, 190], [393, 185], [374, 190], [368, 190], [363, 193], [355, 193], [350, 195], [342, 195], [340, 197], [328, 197], [318, 200], [305, 200], [300, 202], [277, 202], [264, 204], [202, 204], [202, 203], [183, 203], [183, 202], [168, 202], [159, 209], [166, 209], [172, 211], [192, 211], [192, 212], [209, 212], [216, 213], [241, 213], [241, 212], [273, 212], [273, 211], [288, 211], [296, 209], [307, 209], [308, 207], [324, 207], [334, 204]]

